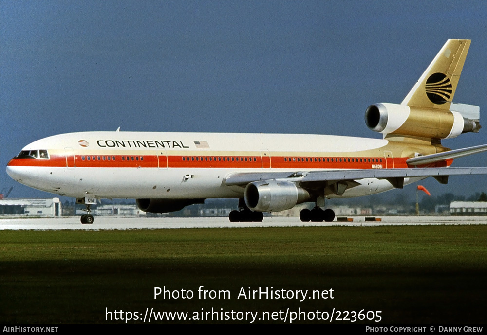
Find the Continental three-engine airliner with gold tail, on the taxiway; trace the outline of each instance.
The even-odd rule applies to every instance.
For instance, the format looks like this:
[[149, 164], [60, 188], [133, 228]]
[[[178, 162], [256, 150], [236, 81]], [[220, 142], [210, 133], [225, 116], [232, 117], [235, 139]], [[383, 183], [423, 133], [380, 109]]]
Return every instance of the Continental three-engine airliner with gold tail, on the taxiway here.
[[470, 40], [449, 39], [400, 104], [365, 112], [382, 139], [310, 134], [96, 131], [61, 134], [26, 145], [6, 167], [14, 180], [76, 198], [93, 223], [102, 198], [135, 198], [150, 213], [168, 213], [207, 198], [238, 198], [231, 222], [257, 221], [314, 202], [303, 222], [333, 221], [325, 199], [403, 188], [434, 177], [486, 174], [450, 167], [487, 144], [450, 150], [441, 140], [479, 132], [480, 107], [452, 99]]

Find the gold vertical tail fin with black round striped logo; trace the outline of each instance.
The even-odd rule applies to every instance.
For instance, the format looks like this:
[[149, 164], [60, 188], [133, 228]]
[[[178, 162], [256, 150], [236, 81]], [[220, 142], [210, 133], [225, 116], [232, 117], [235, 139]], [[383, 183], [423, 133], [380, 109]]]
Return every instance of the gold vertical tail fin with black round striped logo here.
[[469, 39], [449, 39], [401, 105], [449, 110], [469, 47]]

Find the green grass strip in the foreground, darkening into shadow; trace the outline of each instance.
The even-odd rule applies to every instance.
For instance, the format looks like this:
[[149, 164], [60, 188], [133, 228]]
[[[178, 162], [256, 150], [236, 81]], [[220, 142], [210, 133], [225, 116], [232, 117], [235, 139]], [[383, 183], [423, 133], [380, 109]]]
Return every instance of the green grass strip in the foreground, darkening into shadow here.
[[[1, 231], [0, 320], [335, 307], [382, 311], [382, 323], [486, 323], [486, 235], [485, 225]], [[153, 299], [154, 287], [200, 285], [231, 299]], [[237, 299], [249, 286], [333, 288], [335, 299]]]

